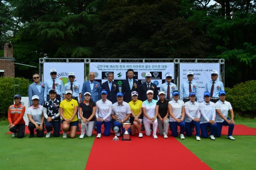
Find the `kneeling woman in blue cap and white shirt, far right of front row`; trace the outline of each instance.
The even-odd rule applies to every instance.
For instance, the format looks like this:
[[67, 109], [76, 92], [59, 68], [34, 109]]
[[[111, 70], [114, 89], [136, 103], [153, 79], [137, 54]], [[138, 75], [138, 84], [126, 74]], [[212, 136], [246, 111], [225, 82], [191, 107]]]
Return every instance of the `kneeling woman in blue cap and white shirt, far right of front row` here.
[[[228, 139], [235, 140], [235, 138], [232, 136], [233, 130], [234, 130], [234, 112], [232, 109], [231, 104], [228, 101], [225, 101], [226, 99], [226, 93], [225, 91], [219, 92], [220, 100], [215, 103], [216, 112], [218, 113], [216, 115], [216, 131], [215, 136], [220, 137], [222, 126], [228, 126]], [[231, 120], [228, 118], [228, 111], [231, 113]]]

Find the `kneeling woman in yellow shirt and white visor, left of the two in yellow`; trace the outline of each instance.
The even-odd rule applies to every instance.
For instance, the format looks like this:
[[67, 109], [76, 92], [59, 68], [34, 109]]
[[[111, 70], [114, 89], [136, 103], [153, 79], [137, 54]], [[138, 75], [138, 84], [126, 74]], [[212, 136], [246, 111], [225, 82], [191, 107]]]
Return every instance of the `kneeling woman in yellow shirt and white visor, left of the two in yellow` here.
[[70, 128], [70, 138], [76, 137], [76, 128], [78, 126], [78, 103], [72, 99], [72, 91], [66, 90], [66, 99], [60, 102], [60, 116], [62, 117], [63, 138], [67, 138], [67, 131]]

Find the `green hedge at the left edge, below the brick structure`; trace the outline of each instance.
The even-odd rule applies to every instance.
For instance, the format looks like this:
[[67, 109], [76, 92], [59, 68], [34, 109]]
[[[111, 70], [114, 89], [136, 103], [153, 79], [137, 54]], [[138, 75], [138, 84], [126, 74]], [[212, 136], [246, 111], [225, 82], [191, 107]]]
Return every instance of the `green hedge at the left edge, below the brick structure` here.
[[0, 77], [0, 117], [8, 114], [8, 108], [13, 104], [15, 94], [28, 96], [30, 83], [28, 79], [24, 78]]

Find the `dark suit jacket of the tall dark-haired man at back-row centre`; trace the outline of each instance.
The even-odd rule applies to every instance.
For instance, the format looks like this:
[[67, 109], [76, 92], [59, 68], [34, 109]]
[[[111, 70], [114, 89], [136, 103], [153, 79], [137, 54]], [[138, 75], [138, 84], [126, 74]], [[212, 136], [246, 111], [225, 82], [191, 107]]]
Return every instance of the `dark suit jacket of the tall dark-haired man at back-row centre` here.
[[[134, 83], [137, 86], [135, 86]], [[132, 98], [131, 98], [132, 91], [137, 91], [139, 93], [138, 81], [133, 79], [133, 85], [132, 85], [132, 90], [131, 90], [128, 79], [124, 80], [123, 83], [122, 83], [122, 93], [124, 94], [124, 101], [125, 102], [129, 103], [132, 100]], [[139, 94], [139, 96], [140, 96], [140, 94]]]

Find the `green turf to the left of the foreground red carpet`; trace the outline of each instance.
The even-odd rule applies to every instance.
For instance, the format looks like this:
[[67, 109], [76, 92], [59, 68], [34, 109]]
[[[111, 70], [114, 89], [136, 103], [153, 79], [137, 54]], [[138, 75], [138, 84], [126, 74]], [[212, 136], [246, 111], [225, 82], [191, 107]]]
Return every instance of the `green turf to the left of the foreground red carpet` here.
[[95, 136], [76, 138], [13, 138], [8, 126], [0, 126], [1, 170], [6, 169], [84, 169]]

